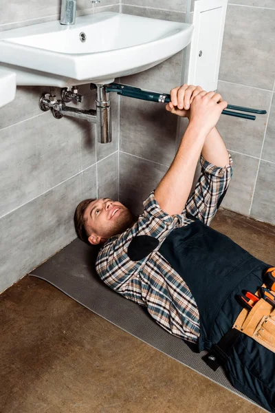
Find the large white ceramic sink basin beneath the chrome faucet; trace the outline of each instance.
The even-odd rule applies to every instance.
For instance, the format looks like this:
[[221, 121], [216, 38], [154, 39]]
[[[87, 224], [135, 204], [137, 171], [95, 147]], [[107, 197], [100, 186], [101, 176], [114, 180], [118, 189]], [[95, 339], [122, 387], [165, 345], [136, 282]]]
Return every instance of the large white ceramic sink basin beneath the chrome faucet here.
[[[193, 26], [129, 14], [101, 12], [0, 33], [0, 61], [17, 85], [65, 87], [107, 84], [153, 67], [184, 49]], [[85, 41], [82, 41], [85, 39]]]

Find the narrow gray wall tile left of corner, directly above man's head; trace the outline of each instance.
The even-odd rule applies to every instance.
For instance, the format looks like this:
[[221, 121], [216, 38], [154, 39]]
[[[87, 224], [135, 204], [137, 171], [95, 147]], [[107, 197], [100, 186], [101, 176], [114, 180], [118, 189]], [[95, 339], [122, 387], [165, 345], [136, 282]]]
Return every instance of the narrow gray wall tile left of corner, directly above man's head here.
[[98, 162], [98, 198], [118, 200], [118, 152]]

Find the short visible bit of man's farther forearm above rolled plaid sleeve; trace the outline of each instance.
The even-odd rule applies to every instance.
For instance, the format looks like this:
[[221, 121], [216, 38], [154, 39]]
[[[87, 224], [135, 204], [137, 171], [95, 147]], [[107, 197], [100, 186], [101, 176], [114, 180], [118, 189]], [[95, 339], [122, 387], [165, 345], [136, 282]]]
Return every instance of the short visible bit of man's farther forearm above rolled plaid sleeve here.
[[225, 167], [229, 163], [228, 150], [216, 127], [206, 137], [201, 155], [217, 167]]

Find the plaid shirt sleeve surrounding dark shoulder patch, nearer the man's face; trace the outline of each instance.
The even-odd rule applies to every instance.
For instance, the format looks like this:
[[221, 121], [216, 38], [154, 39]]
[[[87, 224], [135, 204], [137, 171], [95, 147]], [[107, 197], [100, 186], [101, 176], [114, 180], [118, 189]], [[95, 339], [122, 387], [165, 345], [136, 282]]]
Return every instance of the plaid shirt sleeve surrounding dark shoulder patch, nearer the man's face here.
[[183, 226], [185, 218], [185, 213], [168, 215], [164, 212], [155, 199], [154, 191], [143, 205], [144, 212], [137, 222], [124, 233], [109, 238], [100, 248], [96, 260], [96, 271], [102, 281], [122, 294], [131, 282], [131, 299], [139, 304], [144, 304], [140, 295], [140, 270], [149, 256], [138, 262], [130, 260], [127, 250], [131, 240], [136, 235], [149, 235], [157, 238], [160, 245], [170, 230]]

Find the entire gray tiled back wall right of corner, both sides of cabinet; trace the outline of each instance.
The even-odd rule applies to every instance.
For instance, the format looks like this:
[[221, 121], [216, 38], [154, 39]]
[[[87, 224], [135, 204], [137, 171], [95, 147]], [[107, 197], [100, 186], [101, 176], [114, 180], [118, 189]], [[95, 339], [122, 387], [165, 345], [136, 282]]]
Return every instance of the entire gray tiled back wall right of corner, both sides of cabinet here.
[[[122, 12], [185, 21], [186, 1], [122, 0]], [[234, 3], [234, 4], [233, 4]], [[193, 10], [194, 1], [191, 2]], [[263, 28], [265, 28], [263, 30]], [[229, 0], [217, 92], [228, 103], [267, 110], [256, 120], [221, 116], [218, 129], [234, 159], [223, 207], [275, 224], [275, 3]], [[168, 92], [181, 80], [182, 54], [122, 83]], [[186, 123], [181, 122], [184, 132]], [[173, 160], [177, 122], [154, 104], [123, 98], [120, 114], [120, 197], [142, 209], [140, 197], [159, 182], [159, 167]], [[137, 158], [136, 158], [137, 157]], [[140, 159], [140, 171], [137, 165]], [[144, 162], [146, 162], [144, 164]], [[149, 162], [149, 163], [148, 163]], [[130, 175], [131, 165], [135, 165]], [[146, 165], [146, 166], [145, 166]], [[151, 165], [151, 174], [148, 173]], [[162, 170], [162, 169], [160, 169]], [[127, 171], [127, 172], [126, 172]], [[126, 173], [126, 175], [124, 174]], [[196, 176], [199, 171], [197, 171]], [[128, 176], [129, 178], [125, 178]], [[149, 178], [150, 176], [150, 178]], [[141, 187], [140, 181], [144, 182]], [[150, 184], [149, 184], [150, 182]], [[144, 194], [146, 188], [146, 193]]]

